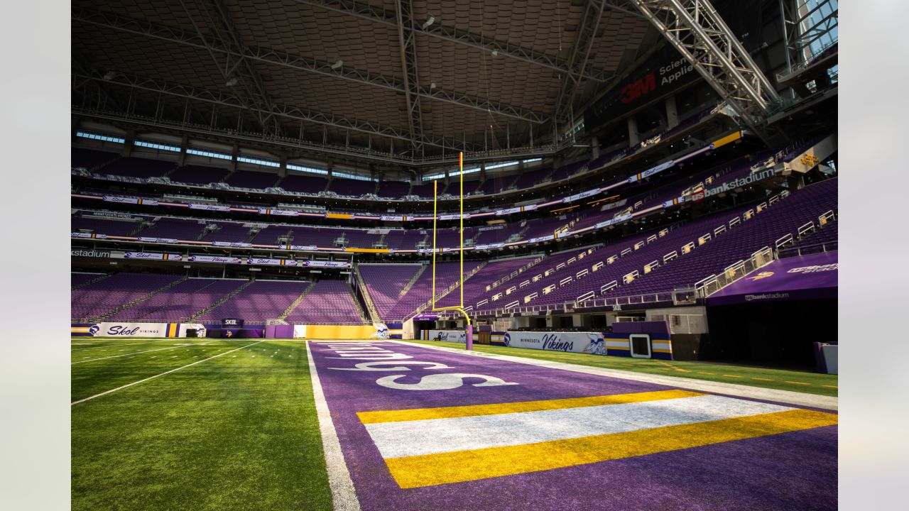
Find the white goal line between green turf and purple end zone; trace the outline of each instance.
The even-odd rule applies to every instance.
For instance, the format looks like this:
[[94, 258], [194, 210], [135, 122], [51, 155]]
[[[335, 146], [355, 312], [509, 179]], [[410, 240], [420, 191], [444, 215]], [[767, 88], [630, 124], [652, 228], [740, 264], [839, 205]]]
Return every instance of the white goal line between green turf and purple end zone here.
[[322, 433], [322, 449], [325, 451], [325, 467], [328, 469], [328, 486], [332, 490], [332, 500], [335, 502], [335, 511], [360, 511], [360, 501], [356, 498], [354, 481], [347, 471], [344, 452], [341, 451], [341, 442], [338, 440], [335, 423], [332, 422], [325, 393], [322, 392], [322, 383], [315, 370], [313, 352], [306, 343], [306, 356], [309, 358], [309, 375], [313, 381], [313, 399], [315, 400], [315, 414], [319, 418], [319, 430]]

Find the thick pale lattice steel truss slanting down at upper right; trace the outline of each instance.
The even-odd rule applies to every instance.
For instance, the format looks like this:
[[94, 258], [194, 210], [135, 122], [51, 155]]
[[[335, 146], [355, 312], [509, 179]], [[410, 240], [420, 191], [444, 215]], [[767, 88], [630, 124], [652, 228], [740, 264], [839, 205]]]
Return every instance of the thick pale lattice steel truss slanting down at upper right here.
[[760, 135], [760, 123], [780, 96], [714, 6], [708, 0], [628, 1]]

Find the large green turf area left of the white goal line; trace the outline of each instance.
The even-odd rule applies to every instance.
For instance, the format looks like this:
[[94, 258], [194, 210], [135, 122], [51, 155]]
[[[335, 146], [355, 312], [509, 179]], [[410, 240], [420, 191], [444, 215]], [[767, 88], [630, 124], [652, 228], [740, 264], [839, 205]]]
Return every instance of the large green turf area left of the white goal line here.
[[[74, 337], [71, 401], [255, 342]], [[300, 342], [260, 342], [75, 404], [71, 446], [73, 509], [332, 508]]]

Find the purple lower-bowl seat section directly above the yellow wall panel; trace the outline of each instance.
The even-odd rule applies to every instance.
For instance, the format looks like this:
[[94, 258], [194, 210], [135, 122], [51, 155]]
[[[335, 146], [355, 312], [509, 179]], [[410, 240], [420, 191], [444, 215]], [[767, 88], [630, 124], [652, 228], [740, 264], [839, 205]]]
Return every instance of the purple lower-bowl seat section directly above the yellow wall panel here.
[[306, 325], [363, 325], [350, 286], [340, 280], [320, 280], [285, 318]]

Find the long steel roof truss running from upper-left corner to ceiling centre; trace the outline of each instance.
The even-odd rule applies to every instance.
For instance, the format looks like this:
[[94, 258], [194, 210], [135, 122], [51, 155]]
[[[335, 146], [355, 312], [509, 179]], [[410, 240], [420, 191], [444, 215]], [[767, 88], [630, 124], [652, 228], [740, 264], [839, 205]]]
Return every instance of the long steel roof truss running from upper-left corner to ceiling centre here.
[[[347, 66], [332, 69], [333, 63], [322, 62], [315, 60], [314, 58], [300, 55], [291, 55], [269, 48], [245, 46], [242, 49], [234, 49], [220, 44], [215, 38], [210, 36], [187, 32], [171, 26], [152, 24], [145, 20], [98, 11], [88, 7], [74, 5], [72, 8], [72, 19], [90, 25], [104, 26], [123, 32], [129, 32], [131, 34], [155, 37], [156, 39], [181, 45], [195, 46], [197, 48], [205, 49], [206, 51], [229, 54], [233, 55], [235, 58], [282, 65], [295, 70], [317, 73], [319, 75], [334, 76], [335, 78], [341, 78], [343, 80], [365, 85], [383, 87], [405, 94], [407, 92], [405, 84], [393, 76], [377, 75], [367, 71], [352, 69]], [[452, 91], [428, 89], [424, 87], [418, 87], [415, 92], [420, 97], [445, 101], [447, 103], [461, 105], [475, 110], [483, 110], [484, 112], [492, 112], [496, 115], [504, 115], [529, 123], [542, 124], [548, 120], [548, 115], [536, 113], [518, 106], [502, 105], [483, 97], [474, 97]]]

